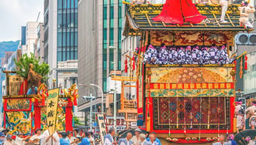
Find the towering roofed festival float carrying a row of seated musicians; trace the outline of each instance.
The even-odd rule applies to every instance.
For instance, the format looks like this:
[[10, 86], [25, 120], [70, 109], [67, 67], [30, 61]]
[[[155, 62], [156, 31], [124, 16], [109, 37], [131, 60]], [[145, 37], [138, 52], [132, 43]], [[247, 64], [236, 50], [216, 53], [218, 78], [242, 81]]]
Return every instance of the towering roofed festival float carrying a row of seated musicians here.
[[236, 68], [236, 60], [243, 62], [245, 53], [236, 55], [234, 39], [251, 31], [240, 13], [249, 5], [123, 3], [123, 35], [140, 36], [133, 52], [137, 126], [168, 144], [211, 144], [235, 133], [235, 76], [244, 66]]

